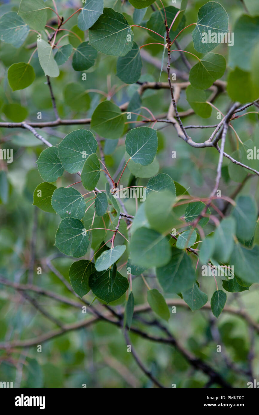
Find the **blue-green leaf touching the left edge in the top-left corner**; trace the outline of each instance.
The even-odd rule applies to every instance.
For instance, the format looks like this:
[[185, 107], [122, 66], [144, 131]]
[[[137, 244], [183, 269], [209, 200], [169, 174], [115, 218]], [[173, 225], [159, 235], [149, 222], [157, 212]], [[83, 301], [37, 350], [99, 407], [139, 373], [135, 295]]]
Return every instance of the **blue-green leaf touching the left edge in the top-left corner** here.
[[0, 40], [20, 48], [27, 38], [30, 28], [15, 12], [0, 17]]

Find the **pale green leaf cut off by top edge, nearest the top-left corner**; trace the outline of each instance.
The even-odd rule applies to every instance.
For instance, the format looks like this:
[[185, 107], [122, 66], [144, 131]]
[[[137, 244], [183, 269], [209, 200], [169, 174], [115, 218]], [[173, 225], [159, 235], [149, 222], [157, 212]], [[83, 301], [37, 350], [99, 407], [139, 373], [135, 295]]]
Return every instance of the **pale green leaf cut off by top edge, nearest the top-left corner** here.
[[47, 8], [43, 0], [22, 0], [18, 15], [32, 29], [39, 32], [44, 29], [47, 23]]

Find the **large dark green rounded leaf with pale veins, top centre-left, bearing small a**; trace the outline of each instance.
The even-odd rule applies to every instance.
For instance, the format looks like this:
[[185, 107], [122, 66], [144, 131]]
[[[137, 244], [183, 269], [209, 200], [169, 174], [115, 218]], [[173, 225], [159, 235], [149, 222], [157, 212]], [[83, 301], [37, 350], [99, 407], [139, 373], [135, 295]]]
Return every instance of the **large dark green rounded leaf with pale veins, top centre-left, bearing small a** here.
[[131, 26], [125, 17], [107, 7], [89, 29], [89, 44], [106, 55], [126, 55], [132, 49], [133, 37]]

